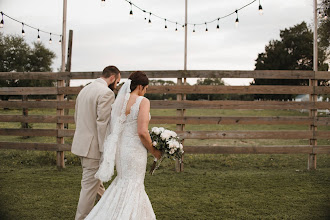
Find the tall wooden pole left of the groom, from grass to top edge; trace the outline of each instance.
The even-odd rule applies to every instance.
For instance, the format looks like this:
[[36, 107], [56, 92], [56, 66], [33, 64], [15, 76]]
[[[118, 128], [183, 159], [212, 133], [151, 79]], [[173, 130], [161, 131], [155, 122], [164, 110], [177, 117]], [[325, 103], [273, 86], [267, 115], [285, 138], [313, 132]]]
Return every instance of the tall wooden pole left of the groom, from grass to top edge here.
[[[67, 0], [63, 0], [63, 24], [62, 24], [62, 63], [61, 63], [61, 72], [65, 72], [65, 46], [66, 46], [66, 13], [67, 13]], [[64, 80], [57, 80], [57, 88], [64, 87]], [[64, 101], [64, 94], [57, 95], [57, 101]], [[63, 116], [64, 109], [57, 107], [56, 115]], [[57, 130], [64, 129], [63, 123], [57, 123]], [[64, 144], [64, 137], [57, 136], [57, 144]], [[57, 151], [56, 158], [57, 168], [65, 168], [64, 163], [64, 151]]]

